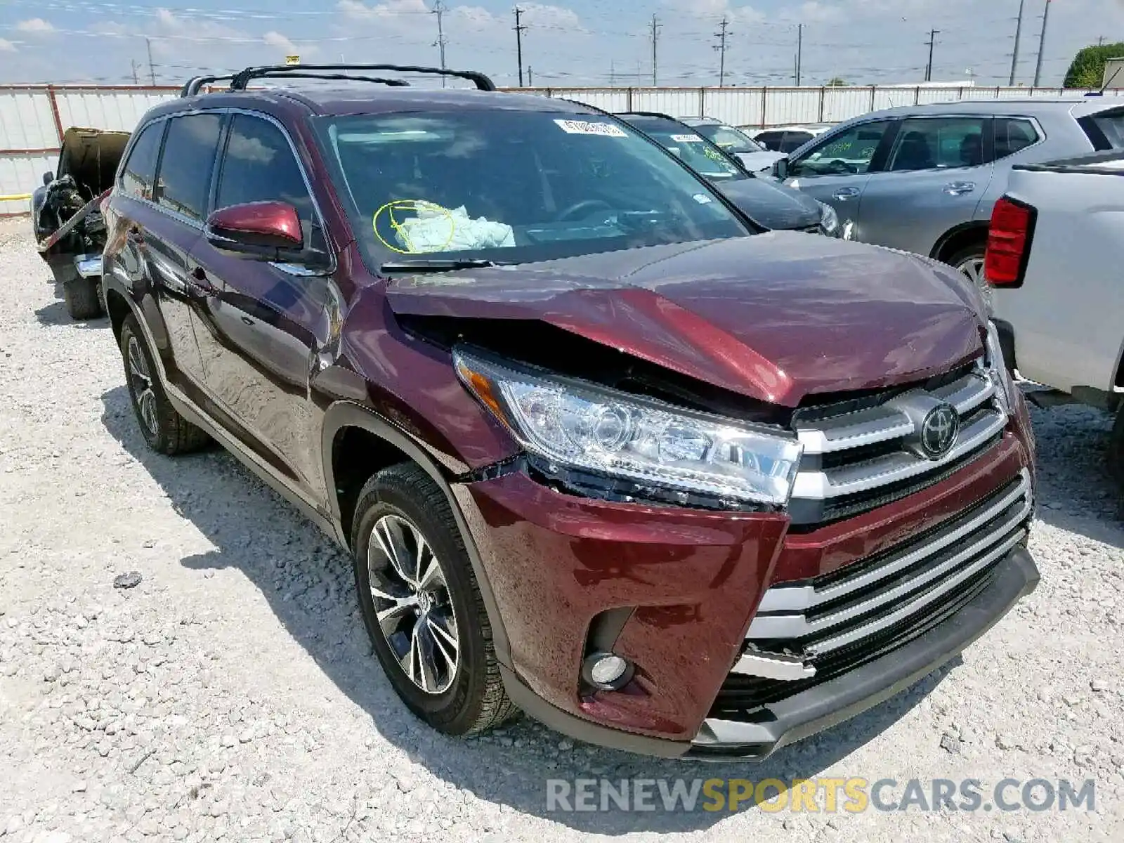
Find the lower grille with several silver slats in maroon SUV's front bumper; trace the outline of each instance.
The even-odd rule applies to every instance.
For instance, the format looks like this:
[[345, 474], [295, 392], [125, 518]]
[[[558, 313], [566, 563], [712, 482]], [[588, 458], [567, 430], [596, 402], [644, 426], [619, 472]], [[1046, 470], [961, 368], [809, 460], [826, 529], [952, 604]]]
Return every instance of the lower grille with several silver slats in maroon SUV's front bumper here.
[[800, 655], [815, 664], [954, 598], [1026, 538], [1032, 497], [1024, 470], [1000, 491], [887, 553], [812, 581], [773, 586], [746, 633], [751, 651]]

